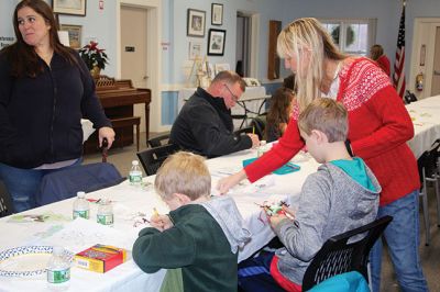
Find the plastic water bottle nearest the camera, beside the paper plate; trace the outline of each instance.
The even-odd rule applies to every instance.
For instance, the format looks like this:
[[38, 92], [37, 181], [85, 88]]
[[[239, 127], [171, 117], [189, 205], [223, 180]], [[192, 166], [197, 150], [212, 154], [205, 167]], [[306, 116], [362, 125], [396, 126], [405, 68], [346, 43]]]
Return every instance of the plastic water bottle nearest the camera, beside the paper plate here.
[[54, 246], [52, 257], [47, 262], [47, 282], [54, 285], [70, 280], [70, 262], [64, 255], [64, 248]]

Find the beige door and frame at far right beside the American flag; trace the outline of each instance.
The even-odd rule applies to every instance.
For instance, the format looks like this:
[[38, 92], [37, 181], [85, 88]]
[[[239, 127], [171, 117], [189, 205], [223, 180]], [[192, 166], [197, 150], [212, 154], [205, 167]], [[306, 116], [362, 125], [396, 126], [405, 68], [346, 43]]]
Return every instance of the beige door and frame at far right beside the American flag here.
[[[407, 88], [418, 99], [431, 96], [437, 26], [440, 26], [440, 18], [415, 18], [414, 20], [411, 66]], [[420, 66], [420, 50], [422, 45], [426, 46], [425, 66]], [[422, 72], [425, 76], [422, 91], [416, 90], [416, 76], [419, 72]]]

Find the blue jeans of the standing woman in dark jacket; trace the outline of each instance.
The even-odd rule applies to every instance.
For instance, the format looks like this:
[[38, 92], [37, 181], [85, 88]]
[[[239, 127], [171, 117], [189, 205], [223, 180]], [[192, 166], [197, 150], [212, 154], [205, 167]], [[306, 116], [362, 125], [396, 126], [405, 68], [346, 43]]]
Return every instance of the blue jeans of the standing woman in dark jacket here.
[[[78, 159], [72, 166], [81, 164]], [[67, 167], [72, 167], [67, 166]], [[36, 207], [35, 193], [38, 191], [43, 177], [57, 169], [22, 169], [0, 164], [0, 179], [3, 180], [11, 194], [14, 212], [23, 212]]]

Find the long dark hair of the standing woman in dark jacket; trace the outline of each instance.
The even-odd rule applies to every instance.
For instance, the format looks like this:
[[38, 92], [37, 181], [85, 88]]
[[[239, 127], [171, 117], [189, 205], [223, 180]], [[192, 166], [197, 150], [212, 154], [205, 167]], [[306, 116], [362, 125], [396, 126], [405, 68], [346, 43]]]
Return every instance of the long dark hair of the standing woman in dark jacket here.
[[23, 0], [16, 4], [12, 15], [12, 23], [15, 32], [16, 42], [7, 46], [1, 50], [6, 54], [11, 64], [11, 74], [14, 77], [36, 77], [44, 70], [44, 65], [38, 61], [38, 56], [33, 46], [28, 45], [19, 29], [18, 12], [20, 9], [29, 7], [37, 14], [42, 15], [45, 22], [51, 26], [50, 45], [55, 53], [59, 54], [72, 65], [79, 65], [75, 58], [75, 53], [72, 48], [65, 47], [61, 42], [57, 33], [58, 24], [54, 18], [51, 7], [43, 0]]

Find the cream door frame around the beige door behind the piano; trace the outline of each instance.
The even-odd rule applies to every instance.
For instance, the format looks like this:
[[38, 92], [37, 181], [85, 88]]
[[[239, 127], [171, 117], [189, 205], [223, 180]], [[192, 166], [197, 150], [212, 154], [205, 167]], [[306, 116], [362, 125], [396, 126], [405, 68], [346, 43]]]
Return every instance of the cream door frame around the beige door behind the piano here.
[[140, 8], [146, 10], [146, 68], [147, 87], [152, 91], [150, 103], [150, 132], [161, 132], [161, 103], [160, 91], [162, 76], [162, 1], [161, 0], [118, 0], [117, 2], [117, 77], [121, 78], [121, 7]]

